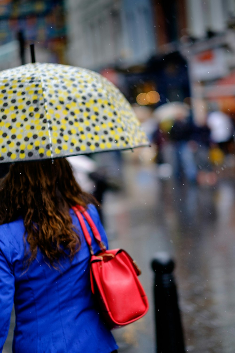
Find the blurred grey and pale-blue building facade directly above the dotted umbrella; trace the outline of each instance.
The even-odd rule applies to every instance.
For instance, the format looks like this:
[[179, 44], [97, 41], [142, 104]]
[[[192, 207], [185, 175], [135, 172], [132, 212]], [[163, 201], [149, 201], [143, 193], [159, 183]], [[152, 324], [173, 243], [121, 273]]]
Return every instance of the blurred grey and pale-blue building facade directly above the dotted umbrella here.
[[68, 0], [68, 61], [102, 69], [143, 63], [155, 52], [150, 0]]

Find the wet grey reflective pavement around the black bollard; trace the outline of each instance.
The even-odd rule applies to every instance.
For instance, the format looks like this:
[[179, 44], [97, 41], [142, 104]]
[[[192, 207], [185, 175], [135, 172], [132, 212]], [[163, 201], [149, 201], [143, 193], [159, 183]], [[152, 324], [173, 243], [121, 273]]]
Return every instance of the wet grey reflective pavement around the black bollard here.
[[[123, 247], [141, 267], [150, 309], [139, 321], [113, 331], [119, 352], [156, 352], [150, 262], [157, 251], [175, 259], [186, 352], [234, 352], [233, 174], [215, 187], [162, 180], [154, 164], [127, 162], [123, 174], [124, 190], [105, 195], [105, 227], [110, 247]], [[11, 352], [12, 329], [13, 322], [4, 353]]]

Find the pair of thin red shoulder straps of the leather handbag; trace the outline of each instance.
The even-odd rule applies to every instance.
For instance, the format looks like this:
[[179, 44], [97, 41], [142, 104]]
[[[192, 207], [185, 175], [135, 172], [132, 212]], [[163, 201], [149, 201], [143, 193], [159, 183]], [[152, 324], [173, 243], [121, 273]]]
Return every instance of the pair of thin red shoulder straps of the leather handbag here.
[[91, 239], [91, 236], [90, 236], [90, 234], [88, 232], [88, 229], [86, 227], [84, 218], [82, 217], [82, 214], [84, 215], [88, 225], [91, 228], [91, 231], [92, 231], [92, 233], [94, 235], [95, 241], [99, 245], [100, 249], [105, 251], [106, 250], [106, 246], [103, 243], [103, 241], [101, 240], [100, 233], [99, 233], [97, 227], [95, 226], [95, 223], [93, 222], [93, 220], [92, 220], [91, 216], [89, 215], [89, 213], [85, 210], [84, 207], [82, 207], [80, 205], [73, 206], [72, 209], [74, 210], [76, 216], [78, 217], [79, 223], [80, 223], [81, 228], [82, 228], [82, 232], [84, 234], [84, 238], [85, 238], [85, 240], [86, 240], [86, 242], [87, 242], [87, 244], [89, 246], [89, 250], [90, 250], [91, 255], [94, 255], [94, 251], [93, 251], [93, 247], [92, 247], [92, 239]]

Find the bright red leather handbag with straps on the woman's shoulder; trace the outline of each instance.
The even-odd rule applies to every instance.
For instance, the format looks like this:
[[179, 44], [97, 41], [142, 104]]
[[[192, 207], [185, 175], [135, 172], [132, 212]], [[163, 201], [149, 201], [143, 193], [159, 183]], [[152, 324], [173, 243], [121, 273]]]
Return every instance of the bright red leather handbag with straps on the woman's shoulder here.
[[[73, 207], [91, 252], [91, 289], [100, 314], [110, 328], [117, 328], [143, 317], [148, 311], [148, 299], [138, 280], [140, 269], [122, 249], [106, 250], [91, 216], [81, 206]], [[84, 217], [92, 230], [100, 252], [94, 255], [92, 239]]]

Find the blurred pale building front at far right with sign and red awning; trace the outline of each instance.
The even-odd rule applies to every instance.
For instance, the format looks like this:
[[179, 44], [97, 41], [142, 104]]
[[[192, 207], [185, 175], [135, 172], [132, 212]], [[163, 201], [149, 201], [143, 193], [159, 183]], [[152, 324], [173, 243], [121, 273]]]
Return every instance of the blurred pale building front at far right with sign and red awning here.
[[235, 114], [235, 1], [187, 0], [187, 32], [181, 52], [190, 74], [194, 118], [208, 109]]

